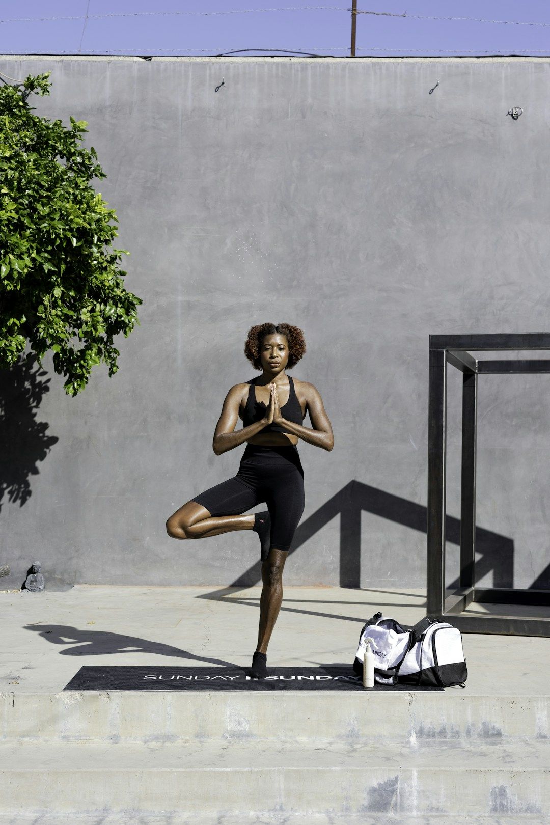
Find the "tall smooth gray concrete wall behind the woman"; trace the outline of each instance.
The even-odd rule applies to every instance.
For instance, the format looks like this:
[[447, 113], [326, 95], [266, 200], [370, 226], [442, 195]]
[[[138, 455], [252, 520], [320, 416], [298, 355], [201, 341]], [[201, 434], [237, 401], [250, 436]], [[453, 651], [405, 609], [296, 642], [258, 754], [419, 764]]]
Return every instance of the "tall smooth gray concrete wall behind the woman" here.
[[[299, 442], [306, 507], [285, 582], [354, 583], [360, 556], [361, 587], [423, 586], [428, 336], [550, 328], [550, 59], [44, 57], [1, 70], [50, 71], [37, 111], [89, 122], [144, 303], [120, 371], [94, 368], [77, 398], [49, 358], [43, 375], [2, 375], [16, 447], [0, 587], [35, 559], [58, 587], [258, 581], [254, 533], [177, 541], [165, 521], [236, 474], [244, 448], [216, 456], [212, 436], [228, 388], [256, 375], [243, 346], [265, 321], [303, 328], [294, 375], [319, 389], [335, 436], [330, 453]], [[458, 389], [456, 373], [451, 516]], [[550, 377], [485, 376], [479, 395], [482, 583], [548, 587]]]

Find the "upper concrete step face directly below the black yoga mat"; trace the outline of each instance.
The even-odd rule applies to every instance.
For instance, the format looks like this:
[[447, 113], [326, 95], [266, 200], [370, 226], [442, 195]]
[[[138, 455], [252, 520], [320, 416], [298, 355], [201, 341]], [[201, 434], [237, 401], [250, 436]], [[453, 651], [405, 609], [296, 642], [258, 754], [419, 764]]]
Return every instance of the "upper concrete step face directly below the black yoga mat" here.
[[[319, 726], [322, 719], [322, 728]], [[60, 691], [0, 694], [0, 739], [106, 742], [550, 738], [550, 696], [442, 692]]]

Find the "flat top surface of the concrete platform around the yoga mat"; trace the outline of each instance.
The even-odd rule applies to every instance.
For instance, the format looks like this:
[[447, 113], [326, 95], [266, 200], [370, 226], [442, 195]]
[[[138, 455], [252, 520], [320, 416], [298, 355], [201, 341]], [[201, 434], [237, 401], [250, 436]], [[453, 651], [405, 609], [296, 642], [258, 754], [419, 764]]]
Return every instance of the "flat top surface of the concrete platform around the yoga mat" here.
[[[260, 594], [257, 586], [91, 584], [64, 592], [0, 592], [0, 691], [56, 693], [82, 665], [248, 666]], [[284, 587], [268, 667], [353, 662], [360, 628], [378, 610], [413, 625], [425, 615], [425, 592]], [[547, 695], [548, 648], [540, 637], [464, 633], [466, 689], [445, 692]]]

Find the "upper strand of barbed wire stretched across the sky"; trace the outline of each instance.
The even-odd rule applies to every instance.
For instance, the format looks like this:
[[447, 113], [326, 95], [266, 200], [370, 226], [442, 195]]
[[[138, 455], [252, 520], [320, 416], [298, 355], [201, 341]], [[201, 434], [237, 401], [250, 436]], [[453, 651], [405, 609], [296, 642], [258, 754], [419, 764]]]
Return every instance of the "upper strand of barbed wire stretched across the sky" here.
[[[71, 15], [71, 16], [56, 16], [56, 17], [6, 17], [0, 20], [2, 23], [35, 23], [35, 22], [52, 22], [58, 20], [98, 20], [109, 17], [143, 17], [143, 16], [219, 16], [227, 14], [256, 14], [258, 12], [351, 12], [351, 8], [341, 6], [286, 6], [276, 8], [243, 8], [243, 9], [229, 9], [224, 12], [112, 12], [110, 14], [89, 14], [85, 15]], [[414, 20], [454, 20], [454, 21], [470, 21], [473, 23], [495, 23], [501, 26], [550, 26], [550, 23], [538, 23], [530, 21], [519, 20], [488, 20], [484, 17], [443, 17], [443, 16], [429, 16], [421, 14], [396, 14], [395, 12], [371, 12], [367, 9], [356, 9], [356, 14], [372, 14], [385, 17], [401, 17], [402, 19]]]

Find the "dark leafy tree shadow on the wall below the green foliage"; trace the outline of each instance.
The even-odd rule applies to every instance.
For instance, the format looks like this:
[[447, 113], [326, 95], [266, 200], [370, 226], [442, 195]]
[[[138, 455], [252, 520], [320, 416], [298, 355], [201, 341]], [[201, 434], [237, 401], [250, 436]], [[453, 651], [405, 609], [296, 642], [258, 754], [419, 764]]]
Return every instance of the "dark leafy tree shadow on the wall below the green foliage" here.
[[22, 356], [16, 365], [0, 370], [0, 511], [4, 500], [23, 505], [31, 497], [31, 475], [59, 441], [47, 435], [48, 422], [36, 421], [45, 393], [48, 373], [34, 353]]

